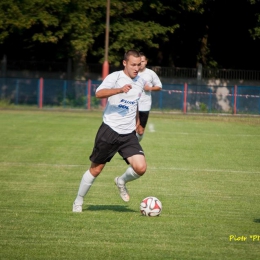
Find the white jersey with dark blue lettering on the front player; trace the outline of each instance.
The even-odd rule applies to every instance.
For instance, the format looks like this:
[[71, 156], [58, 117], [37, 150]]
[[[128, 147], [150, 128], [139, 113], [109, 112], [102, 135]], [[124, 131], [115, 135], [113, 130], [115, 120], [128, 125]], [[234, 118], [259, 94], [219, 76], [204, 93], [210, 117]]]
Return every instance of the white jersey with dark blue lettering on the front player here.
[[118, 134], [129, 134], [136, 129], [138, 100], [145, 81], [138, 75], [131, 79], [121, 70], [109, 74], [96, 90], [122, 88], [126, 84], [130, 84], [132, 89], [109, 97], [103, 113], [103, 122]]

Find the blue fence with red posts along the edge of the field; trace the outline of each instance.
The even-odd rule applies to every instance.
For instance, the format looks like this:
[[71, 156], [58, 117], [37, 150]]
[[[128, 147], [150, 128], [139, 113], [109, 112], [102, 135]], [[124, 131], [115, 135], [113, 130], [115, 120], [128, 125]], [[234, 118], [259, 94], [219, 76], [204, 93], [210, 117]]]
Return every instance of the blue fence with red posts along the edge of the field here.
[[[101, 81], [0, 78], [0, 105], [101, 108]], [[183, 113], [260, 114], [260, 86], [163, 84], [152, 93], [152, 110]]]

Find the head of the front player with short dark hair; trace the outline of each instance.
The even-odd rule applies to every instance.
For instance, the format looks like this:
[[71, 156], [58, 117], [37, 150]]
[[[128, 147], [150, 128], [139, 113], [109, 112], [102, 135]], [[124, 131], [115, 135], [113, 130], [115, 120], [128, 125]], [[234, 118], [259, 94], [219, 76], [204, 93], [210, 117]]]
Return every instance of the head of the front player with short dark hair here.
[[124, 72], [130, 78], [135, 78], [141, 67], [141, 55], [139, 51], [129, 50], [124, 55]]

